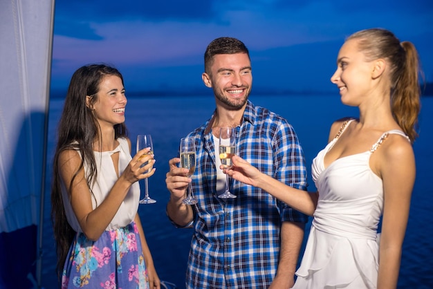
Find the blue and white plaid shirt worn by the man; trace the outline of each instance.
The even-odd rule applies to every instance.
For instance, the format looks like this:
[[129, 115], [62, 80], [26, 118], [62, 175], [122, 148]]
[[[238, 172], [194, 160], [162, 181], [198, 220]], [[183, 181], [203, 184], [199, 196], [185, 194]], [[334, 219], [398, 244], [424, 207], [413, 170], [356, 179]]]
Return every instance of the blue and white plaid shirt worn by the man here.
[[[211, 118], [213, 120], [213, 117]], [[308, 217], [257, 187], [230, 179], [237, 198], [216, 196], [212, 123], [189, 134], [196, 138], [192, 189], [194, 234], [187, 288], [267, 288], [277, 272], [282, 221]], [[249, 100], [237, 127], [237, 156], [277, 180], [306, 189], [304, 153], [290, 124]]]

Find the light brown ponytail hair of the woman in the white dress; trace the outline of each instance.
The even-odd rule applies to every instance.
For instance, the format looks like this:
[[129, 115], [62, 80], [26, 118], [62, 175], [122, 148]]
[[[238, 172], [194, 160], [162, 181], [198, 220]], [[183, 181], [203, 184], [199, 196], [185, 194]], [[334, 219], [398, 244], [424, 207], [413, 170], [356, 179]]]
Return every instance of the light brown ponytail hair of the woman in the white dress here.
[[367, 59], [387, 59], [391, 66], [391, 109], [394, 119], [414, 142], [418, 136], [418, 114], [420, 112], [420, 94], [418, 76], [418, 53], [414, 44], [400, 42], [397, 37], [382, 28], [361, 30], [349, 36], [359, 39], [358, 48]]

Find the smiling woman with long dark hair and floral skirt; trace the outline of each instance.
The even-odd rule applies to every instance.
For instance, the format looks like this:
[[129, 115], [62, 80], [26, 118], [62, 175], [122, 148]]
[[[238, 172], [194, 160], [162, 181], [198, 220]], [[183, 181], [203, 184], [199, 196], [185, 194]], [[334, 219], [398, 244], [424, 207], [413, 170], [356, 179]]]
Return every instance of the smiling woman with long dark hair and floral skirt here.
[[[116, 68], [73, 74], [58, 127], [51, 192], [62, 288], [160, 288], [138, 216], [149, 148], [131, 158], [125, 88]], [[143, 164], [147, 163], [147, 165]]]

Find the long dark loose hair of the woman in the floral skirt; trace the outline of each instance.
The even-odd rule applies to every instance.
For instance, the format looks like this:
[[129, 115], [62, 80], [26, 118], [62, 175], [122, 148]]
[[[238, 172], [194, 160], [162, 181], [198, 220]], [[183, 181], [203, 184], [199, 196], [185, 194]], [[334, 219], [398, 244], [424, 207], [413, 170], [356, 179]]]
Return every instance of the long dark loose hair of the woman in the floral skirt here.
[[[64, 109], [57, 129], [57, 147], [53, 160], [53, 185], [51, 188], [51, 219], [53, 221], [53, 232], [57, 250], [57, 274], [60, 277], [62, 268], [66, 261], [69, 247], [75, 236], [75, 231], [69, 225], [64, 210], [62, 197], [61, 179], [59, 176], [59, 155], [62, 151], [75, 149], [80, 151], [82, 161], [75, 172], [71, 183], [64, 184], [69, 191], [78, 171], [83, 169], [84, 162], [89, 164], [86, 171], [86, 182], [91, 187], [98, 171], [96, 171], [95, 155], [93, 153], [93, 142], [100, 138], [100, 127], [98, 120], [91, 109], [86, 105], [86, 96], [91, 97], [91, 104], [98, 101], [97, 93], [100, 83], [107, 75], [120, 77], [123, 84], [122, 74], [111, 66], [105, 64], [91, 64], [78, 68], [72, 75], [68, 92], [64, 101]], [[114, 126], [115, 138], [127, 136], [125, 123]], [[101, 142], [100, 142], [101, 143]]]

